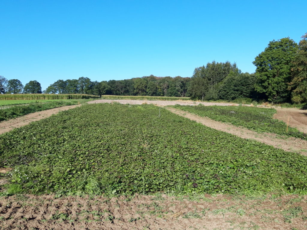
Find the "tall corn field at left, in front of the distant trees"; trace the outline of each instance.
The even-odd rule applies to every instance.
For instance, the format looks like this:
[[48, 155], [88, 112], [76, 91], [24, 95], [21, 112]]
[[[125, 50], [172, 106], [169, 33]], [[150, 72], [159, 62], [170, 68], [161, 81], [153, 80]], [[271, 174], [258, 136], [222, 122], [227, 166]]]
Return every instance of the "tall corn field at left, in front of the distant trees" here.
[[52, 100], [52, 99], [90, 99], [100, 98], [88, 94], [0, 94], [0, 101], [5, 100]]

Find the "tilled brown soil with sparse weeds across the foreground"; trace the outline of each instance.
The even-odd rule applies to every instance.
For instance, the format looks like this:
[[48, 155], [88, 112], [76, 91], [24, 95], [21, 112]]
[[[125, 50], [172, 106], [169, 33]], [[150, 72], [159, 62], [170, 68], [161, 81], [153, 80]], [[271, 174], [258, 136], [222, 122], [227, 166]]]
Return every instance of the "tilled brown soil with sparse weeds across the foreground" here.
[[0, 229], [306, 229], [307, 196], [0, 198]]

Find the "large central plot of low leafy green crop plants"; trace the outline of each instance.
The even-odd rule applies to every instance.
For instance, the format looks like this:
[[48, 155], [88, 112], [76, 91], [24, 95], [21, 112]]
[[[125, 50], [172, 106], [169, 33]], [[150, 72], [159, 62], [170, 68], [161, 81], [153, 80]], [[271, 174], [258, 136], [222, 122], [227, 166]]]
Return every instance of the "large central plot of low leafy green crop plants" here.
[[307, 194], [307, 158], [153, 105], [92, 104], [0, 135], [6, 194]]

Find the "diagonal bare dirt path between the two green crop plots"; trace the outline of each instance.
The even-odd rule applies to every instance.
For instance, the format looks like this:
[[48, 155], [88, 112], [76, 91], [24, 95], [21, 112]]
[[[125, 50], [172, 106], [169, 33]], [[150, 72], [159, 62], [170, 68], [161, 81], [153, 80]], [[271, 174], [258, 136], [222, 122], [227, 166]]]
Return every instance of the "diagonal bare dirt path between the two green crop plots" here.
[[307, 141], [301, 140], [299, 138], [290, 137], [284, 140], [278, 138], [276, 135], [271, 133], [257, 133], [247, 128], [239, 128], [234, 125], [214, 121], [208, 117], [200, 117], [192, 113], [182, 111], [180, 109], [175, 109], [171, 107], [165, 107], [165, 109], [168, 109], [169, 111], [182, 117], [186, 117], [190, 120], [199, 122], [210, 128], [214, 128], [223, 132], [228, 132], [241, 138], [257, 140], [264, 144], [274, 146], [275, 148], [281, 148], [285, 151], [298, 152], [302, 155], [307, 156], [307, 152], [304, 151], [307, 150]]

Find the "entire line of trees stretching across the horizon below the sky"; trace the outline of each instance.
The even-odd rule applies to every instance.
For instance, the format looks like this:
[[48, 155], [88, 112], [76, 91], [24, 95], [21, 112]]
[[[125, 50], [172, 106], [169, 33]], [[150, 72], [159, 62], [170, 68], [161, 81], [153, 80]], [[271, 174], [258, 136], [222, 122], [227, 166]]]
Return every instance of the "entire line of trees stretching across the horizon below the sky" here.
[[[270, 41], [255, 57], [255, 73], [242, 73], [236, 63], [212, 61], [195, 68], [192, 77], [157, 77], [91, 81], [87, 77], [57, 80], [48, 94], [144, 95], [191, 97], [200, 100], [252, 98], [272, 103], [307, 102], [307, 33], [297, 44], [289, 37]], [[0, 77], [0, 93], [41, 93], [40, 84], [22, 86]]]

